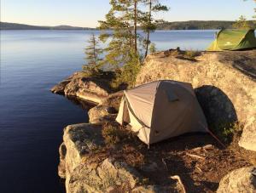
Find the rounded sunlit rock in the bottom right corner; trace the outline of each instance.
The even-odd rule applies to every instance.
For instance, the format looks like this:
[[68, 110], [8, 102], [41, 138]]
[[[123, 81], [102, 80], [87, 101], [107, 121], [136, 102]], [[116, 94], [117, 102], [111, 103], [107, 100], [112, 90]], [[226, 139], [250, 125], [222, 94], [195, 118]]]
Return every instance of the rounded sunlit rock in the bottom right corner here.
[[[254, 174], [253, 174], [254, 173]], [[256, 192], [256, 168], [242, 167], [221, 179], [217, 193], [253, 193]]]

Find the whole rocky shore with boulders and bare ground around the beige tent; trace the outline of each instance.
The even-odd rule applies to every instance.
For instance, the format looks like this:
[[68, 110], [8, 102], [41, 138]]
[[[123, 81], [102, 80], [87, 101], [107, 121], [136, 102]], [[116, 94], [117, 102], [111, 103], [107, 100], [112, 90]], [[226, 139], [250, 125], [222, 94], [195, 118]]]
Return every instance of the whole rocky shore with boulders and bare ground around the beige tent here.
[[239, 143], [225, 150], [207, 134], [168, 139], [151, 150], [132, 134], [109, 145], [104, 129], [114, 122], [122, 92], [113, 94], [108, 81], [83, 72], [60, 82], [53, 93], [97, 104], [89, 111], [90, 123], [64, 129], [58, 172], [67, 192], [255, 191], [255, 65], [255, 51], [201, 53], [193, 60], [166, 51], [148, 55], [137, 76], [137, 85], [160, 79], [191, 82], [211, 125], [240, 122]]

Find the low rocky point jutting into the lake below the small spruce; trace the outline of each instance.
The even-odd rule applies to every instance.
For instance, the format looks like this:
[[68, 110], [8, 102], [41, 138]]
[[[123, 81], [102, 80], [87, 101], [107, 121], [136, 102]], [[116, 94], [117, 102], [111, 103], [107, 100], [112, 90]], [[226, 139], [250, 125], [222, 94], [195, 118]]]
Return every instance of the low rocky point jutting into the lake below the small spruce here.
[[51, 92], [79, 97], [96, 104], [101, 104], [102, 100], [111, 93], [108, 80], [85, 77], [83, 72], [74, 73], [73, 76], [51, 88]]

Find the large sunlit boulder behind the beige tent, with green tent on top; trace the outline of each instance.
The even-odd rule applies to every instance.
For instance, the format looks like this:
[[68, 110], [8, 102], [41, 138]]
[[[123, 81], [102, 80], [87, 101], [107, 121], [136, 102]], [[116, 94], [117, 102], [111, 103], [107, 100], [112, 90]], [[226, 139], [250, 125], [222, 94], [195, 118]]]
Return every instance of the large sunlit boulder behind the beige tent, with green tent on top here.
[[180, 54], [148, 55], [137, 85], [160, 79], [190, 82], [210, 126], [243, 125], [239, 145], [256, 150], [256, 51], [202, 53], [188, 60]]

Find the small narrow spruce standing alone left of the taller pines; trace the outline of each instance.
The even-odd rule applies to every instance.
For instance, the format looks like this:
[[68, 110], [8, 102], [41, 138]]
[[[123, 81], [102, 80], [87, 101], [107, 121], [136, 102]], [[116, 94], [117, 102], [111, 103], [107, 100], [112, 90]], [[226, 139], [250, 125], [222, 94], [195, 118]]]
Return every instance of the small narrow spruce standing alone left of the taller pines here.
[[103, 50], [99, 47], [99, 41], [94, 34], [90, 36], [88, 43], [84, 52], [87, 64], [83, 65], [83, 70], [89, 72], [90, 75], [98, 75], [102, 70], [101, 54]]

